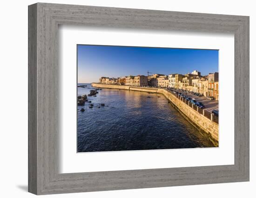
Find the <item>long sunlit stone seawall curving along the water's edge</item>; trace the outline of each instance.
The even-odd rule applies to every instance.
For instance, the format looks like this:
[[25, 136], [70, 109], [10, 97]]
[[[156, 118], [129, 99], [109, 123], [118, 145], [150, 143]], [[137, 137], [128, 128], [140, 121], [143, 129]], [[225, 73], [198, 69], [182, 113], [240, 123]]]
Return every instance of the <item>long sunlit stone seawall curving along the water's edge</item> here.
[[148, 93], [160, 93], [164, 95], [168, 101], [172, 102], [173, 105], [179, 110], [182, 115], [196, 128], [200, 131], [203, 131], [209, 134], [209, 138], [213, 143], [218, 146], [219, 140], [219, 125], [209, 120], [207, 117], [198, 113], [195, 109], [192, 109], [185, 102], [182, 102], [179, 98], [174, 96], [172, 93], [168, 92], [166, 89], [157, 89], [157, 88], [147, 88], [147, 87], [132, 87], [128, 85], [112, 85], [112, 84], [101, 84], [101, 83], [92, 83], [93, 87], [97, 88], [108, 88], [108, 89], [125, 89], [133, 91], [142, 91]]

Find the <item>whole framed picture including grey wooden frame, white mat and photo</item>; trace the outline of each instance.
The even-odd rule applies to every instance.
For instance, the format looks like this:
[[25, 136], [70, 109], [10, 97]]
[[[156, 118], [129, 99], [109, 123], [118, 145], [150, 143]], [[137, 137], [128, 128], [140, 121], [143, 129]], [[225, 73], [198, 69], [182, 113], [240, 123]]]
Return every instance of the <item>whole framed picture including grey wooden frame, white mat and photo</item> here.
[[37, 3], [28, 19], [29, 192], [249, 181], [249, 17]]

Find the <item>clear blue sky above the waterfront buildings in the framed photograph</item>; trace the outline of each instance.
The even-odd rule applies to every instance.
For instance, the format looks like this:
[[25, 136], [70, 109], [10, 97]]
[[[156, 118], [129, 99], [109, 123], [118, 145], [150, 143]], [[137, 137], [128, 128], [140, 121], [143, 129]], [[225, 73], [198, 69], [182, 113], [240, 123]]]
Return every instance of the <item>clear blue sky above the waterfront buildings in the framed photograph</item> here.
[[218, 72], [218, 50], [77, 45], [78, 83], [100, 77]]

